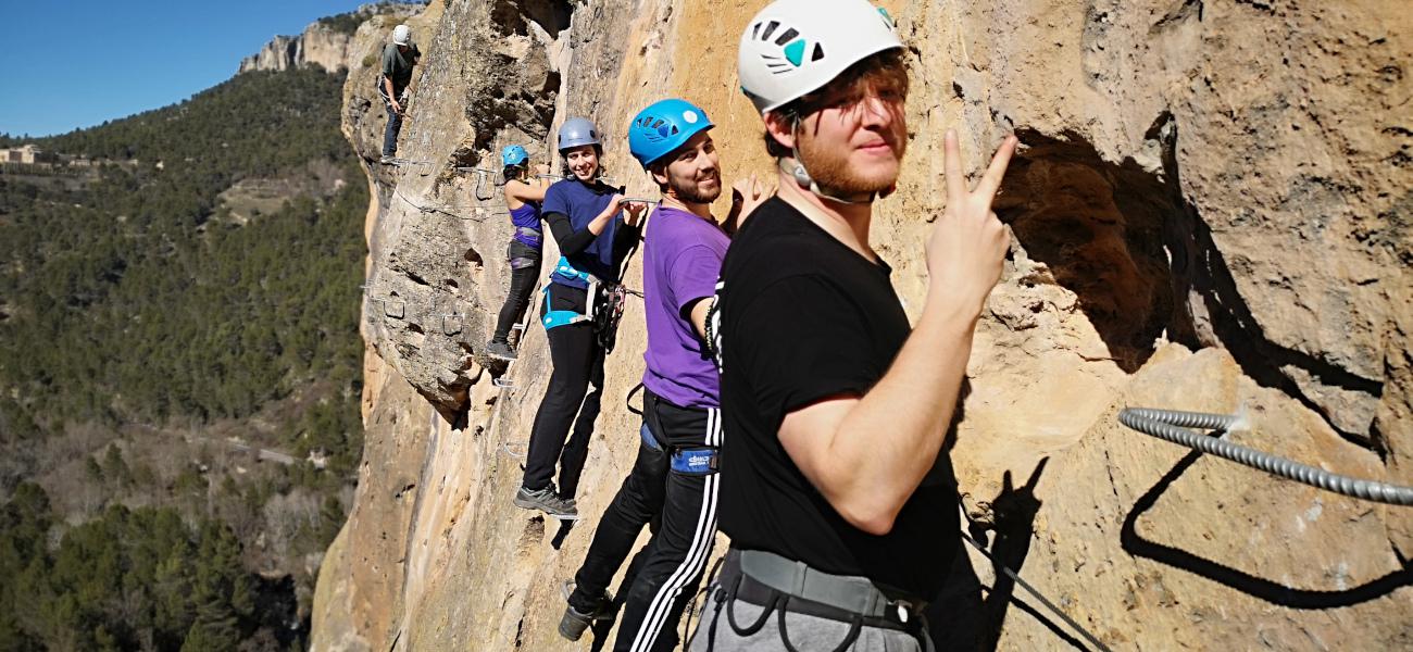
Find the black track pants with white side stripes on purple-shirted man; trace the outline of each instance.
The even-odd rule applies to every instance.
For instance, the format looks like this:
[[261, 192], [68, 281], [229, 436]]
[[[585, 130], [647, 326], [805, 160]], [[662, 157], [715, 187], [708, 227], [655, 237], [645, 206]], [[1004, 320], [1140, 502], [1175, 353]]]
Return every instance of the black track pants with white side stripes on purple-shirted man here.
[[[643, 421], [657, 449], [644, 445], [637, 463], [603, 512], [593, 542], [575, 576], [575, 608], [602, 596], [633, 541], [654, 517], [660, 525], [634, 559], [615, 651], [668, 651], [677, 646], [677, 622], [701, 583], [716, 538], [715, 473], [670, 470], [663, 449], [721, 446], [721, 412], [681, 408], [643, 392]], [[660, 509], [660, 512], [658, 512]]]

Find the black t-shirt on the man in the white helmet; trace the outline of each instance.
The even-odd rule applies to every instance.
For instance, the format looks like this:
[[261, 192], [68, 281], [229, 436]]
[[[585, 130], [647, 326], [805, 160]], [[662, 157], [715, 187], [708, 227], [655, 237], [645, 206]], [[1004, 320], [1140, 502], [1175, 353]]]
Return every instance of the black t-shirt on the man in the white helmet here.
[[935, 596], [957, 553], [957, 481], [947, 456], [903, 505], [893, 531], [839, 517], [780, 445], [784, 415], [831, 395], [866, 394], [911, 332], [892, 270], [770, 199], [732, 240], [719, 289], [721, 529], [835, 574]]

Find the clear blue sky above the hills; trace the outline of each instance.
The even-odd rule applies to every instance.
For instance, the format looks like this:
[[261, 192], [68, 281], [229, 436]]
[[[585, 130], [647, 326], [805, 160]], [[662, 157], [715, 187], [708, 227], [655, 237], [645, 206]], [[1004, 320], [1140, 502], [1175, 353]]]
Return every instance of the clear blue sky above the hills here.
[[0, 131], [48, 135], [181, 102], [276, 34], [369, 0], [0, 0]]

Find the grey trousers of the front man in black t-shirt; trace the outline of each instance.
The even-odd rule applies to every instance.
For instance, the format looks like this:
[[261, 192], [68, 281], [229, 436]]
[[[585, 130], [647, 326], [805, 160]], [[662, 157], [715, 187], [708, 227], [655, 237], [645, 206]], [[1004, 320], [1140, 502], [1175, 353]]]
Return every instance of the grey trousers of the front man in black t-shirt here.
[[[719, 583], [712, 583], [706, 591], [706, 604], [692, 634], [690, 652], [787, 652], [780, 636], [780, 614], [770, 614], [760, 631], [742, 636], [731, 627], [726, 603], [718, 603]], [[718, 608], [719, 607], [719, 608]], [[757, 618], [763, 607], [736, 600], [731, 608], [736, 627], [746, 629]], [[817, 618], [812, 615], [786, 612], [786, 632], [790, 645], [797, 652], [829, 652], [849, 635], [849, 624]], [[923, 652], [917, 638], [897, 629], [865, 627], [859, 638], [848, 648], [849, 652]]]

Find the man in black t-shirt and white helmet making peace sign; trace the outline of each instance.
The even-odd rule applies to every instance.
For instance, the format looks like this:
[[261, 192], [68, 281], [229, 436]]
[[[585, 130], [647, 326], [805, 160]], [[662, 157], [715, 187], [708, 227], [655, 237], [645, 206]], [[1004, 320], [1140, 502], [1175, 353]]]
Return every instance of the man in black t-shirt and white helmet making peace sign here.
[[931, 649], [923, 610], [961, 542], [942, 442], [1007, 247], [991, 202], [1016, 140], [968, 192], [947, 134], [910, 327], [869, 244], [909, 140], [904, 56], [866, 0], [777, 0], [742, 34], [780, 191], [732, 240], [711, 316], [731, 549], [692, 651]]

